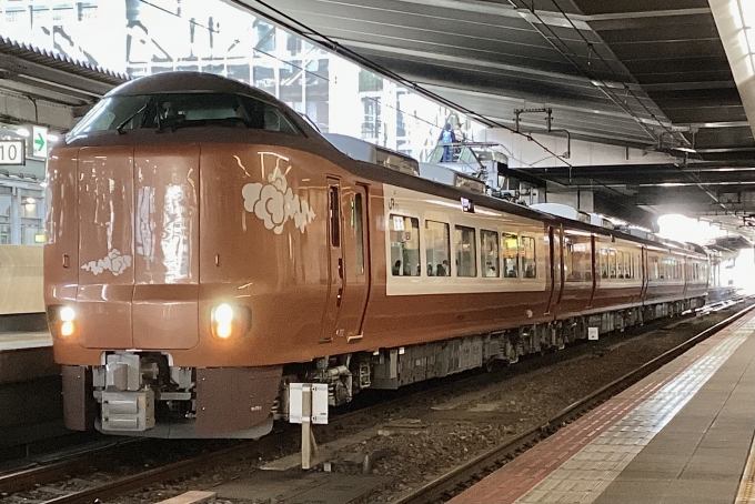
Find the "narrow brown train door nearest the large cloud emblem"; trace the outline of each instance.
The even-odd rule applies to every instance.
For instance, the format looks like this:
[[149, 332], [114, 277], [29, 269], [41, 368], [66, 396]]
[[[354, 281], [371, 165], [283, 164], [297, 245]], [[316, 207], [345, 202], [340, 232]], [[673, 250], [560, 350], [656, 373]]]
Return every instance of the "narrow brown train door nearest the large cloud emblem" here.
[[321, 343], [331, 343], [344, 333], [340, 315], [344, 293], [344, 264], [341, 249], [341, 181], [328, 178], [328, 302], [323, 316]]

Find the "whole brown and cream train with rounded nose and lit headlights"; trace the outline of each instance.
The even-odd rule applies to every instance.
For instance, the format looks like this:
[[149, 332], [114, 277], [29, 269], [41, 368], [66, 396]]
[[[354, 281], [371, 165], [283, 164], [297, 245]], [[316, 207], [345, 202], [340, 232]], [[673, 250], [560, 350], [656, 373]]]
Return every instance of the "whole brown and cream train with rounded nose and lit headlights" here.
[[209, 74], [113, 90], [48, 171], [44, 298], [74, 430], [259, 437], [291, 382], [343, 404], [706, 295], [701, 249], [355, 161]]

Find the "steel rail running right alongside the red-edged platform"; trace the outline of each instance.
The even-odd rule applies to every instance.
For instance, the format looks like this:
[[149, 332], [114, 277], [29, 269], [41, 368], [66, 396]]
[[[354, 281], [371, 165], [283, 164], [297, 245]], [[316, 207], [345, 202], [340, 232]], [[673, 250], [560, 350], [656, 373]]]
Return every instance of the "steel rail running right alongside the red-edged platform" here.
[[482, 477], [505, 465], [506, 462], [514, 458], [522, 451], [531, 447], [545, 437], [548, 437], [565, 423], [574, 421], [590, 410], [593, 410], [607, 399], [616, 395], [643, 377], [658, 370], [664, 364], [667, 364], [668, 362], [678, 357], [697, 343], [708, 339], [716, 332], [741, 319], [753, 309], [755, 309], [755, 304], [741, 310], [734, 315], [718, 322], [705, 331], [702, 331], [684, 343], [662, 353], [652, 361], [646, 362], [636, 370], [625, 374], [624, 376], [621, 376], [617, 380], [614, 380], [607, 385], [604, 385], [588, 396], [556, 413], [545, 423], [530, 429], [528, 431], [515, 436], [507, 443], [496, 446], [484, 454], [472, 458], [464, 465], [461, 465], [455, 470], [437, 477], [436, 480], [427, 483], [421, 488], [417, 488], [411, 494], [403, 496], [393, 504], [426, 504], [429, 502], [444, 500], [443, 497], [454, 494], [459, 490], [471, 486], [471, 484], [476, 483], [477, 481], [482, 480]]

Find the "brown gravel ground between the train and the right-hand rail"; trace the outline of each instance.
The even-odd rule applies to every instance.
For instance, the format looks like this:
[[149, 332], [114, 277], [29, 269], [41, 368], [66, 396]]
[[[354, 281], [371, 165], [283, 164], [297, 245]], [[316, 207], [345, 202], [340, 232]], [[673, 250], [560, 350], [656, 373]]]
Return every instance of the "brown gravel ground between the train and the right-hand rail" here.
[[[734, 311], [742, 308], [739, 304]], [[434, 392], [416, 394], [417, 399], [412, 400], [410, 406], [406, 402], [396, 401], [395, 407], [348, 427], [319, 429], [315, 431], [318, 441], [322, 444], [368, 431], [371, 437], [366, 441], [334, 455], [333, 471], [359, 474], [364, 455], [380, 454], [372, 474], [391, 476], [393, 484], [370, 495], [369, 501], [390, 502], [542, 424], [575, 401], [724, 320], [734, 311], [689, 319], [675, 327], [667, 325], [641, 335], [615, 334], [602, 337], [597, 343], [575, 344], [562, 352], [528, 359], [511, 367], [502, 366], [490, 374], [467, 373], [445, 383], [420, 385], [415, 389], [433, 387]], [[442, 384], [439, 386], [439, 383]], [[411, 396], [412, 389], [404, 393]], [[154, 503], [189, 490], [212, 490], [221, 483], [248, 475], [262, 463], [292, 448], [296, 450], [290, 442], [284, 443], [281, 451], [272, 456], [253, 454], [243, 461], [229, 461], [229, 464], [211, 467], [180, 482], [157, 485], [110, 502]], [[112, 473], [92, 474], [87, 480], [103, 481], [113, 476]], [[73, 480], [71, 484], [78, 486], [79, 482]], [[0, 497], [0, 502], [22, 502], [8, 498], [13, 497]]]

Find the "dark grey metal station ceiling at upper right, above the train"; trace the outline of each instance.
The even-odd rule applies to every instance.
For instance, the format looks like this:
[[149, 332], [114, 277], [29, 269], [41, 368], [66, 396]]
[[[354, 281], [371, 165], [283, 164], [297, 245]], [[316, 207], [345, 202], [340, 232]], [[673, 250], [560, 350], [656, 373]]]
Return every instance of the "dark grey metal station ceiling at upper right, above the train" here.
[[[573, 138], [678, 159], [540, 173], [551, 181], [653, 213], [755, 213], [751, 188], [728, 183], [733, 168], [753, 174], [755, 140], [707, 0], [234, 1], [487, 125], [552, 108], [553, 128]], [[522, 115], [522, 131], [544, 128]]]

